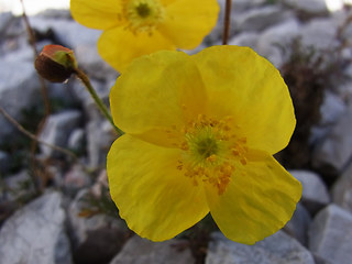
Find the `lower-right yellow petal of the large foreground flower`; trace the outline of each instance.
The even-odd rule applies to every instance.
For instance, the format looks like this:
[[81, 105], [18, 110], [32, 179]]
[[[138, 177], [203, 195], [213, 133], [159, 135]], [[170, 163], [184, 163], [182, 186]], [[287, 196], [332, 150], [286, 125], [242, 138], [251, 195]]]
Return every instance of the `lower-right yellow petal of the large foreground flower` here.
[[271, 155], [254, 153], [239, 166], [223, 195], [207, 187], [210, 212], [229, 239], [254, 244], [285, 226], [301, 196], [301, 185]]

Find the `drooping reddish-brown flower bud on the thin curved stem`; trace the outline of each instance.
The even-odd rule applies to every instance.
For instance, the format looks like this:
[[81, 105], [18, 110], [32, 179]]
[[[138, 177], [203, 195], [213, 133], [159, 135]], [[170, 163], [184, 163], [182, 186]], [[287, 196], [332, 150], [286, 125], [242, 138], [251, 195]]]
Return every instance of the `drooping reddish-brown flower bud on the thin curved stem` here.
[[34, 66], [44, 79], [64, 82], [77, 69], [77, 62], [72, 50], [61, 45], [46, 45]]

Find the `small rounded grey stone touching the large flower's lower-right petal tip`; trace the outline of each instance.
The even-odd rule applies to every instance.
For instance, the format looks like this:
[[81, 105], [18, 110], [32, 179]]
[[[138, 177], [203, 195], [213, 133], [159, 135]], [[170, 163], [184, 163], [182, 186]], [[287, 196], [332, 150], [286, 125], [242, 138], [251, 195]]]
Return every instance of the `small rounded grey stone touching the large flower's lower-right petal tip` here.
[[289, 173], [301, 183], [301, 202], [310, 213], [315, 215], [330, 202], [328, 188], [318, 174], [310, 170], [290, 170]]

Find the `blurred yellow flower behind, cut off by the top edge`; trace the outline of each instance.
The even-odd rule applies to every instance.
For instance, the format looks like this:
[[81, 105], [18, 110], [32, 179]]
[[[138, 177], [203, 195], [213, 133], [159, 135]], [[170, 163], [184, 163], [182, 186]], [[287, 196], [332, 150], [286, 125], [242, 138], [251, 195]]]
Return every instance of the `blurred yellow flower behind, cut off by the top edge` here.
[[103, 30], [101, 57], [117, 70], [160, 50], [195, 48], [216, 25], [217, 0], [70, 0], [76, 21]]

